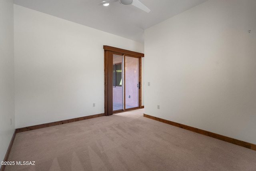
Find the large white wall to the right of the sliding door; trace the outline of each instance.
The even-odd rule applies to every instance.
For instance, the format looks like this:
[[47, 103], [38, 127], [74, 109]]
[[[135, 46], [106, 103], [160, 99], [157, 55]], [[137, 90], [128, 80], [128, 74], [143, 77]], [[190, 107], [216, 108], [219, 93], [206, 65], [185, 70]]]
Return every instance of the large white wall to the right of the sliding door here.
[[145, 30], [144, 112], [256, 144], [255, 9], [209, 0]]

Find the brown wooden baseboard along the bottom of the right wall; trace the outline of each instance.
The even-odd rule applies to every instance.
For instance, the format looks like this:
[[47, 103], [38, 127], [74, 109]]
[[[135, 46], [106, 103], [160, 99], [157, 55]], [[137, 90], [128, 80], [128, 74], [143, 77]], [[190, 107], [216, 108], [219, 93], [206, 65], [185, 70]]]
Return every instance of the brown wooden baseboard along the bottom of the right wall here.
[[222, 141], [226, 141], [228, 143], [232, 143], [232, 144], [239, 145], [239, 146], [242, 146], [242, 147], [246, 147], [248, 149], [252, 149], [252, 150], [256, 151], [256, 145], [252, 144], [252, 143], [248, 143], [248, 142], [241, 141], [241, 140], [238, 140], [238, 139], [226, 137], [224, 135], [219, 135], [219, 134], [212, 133], [212, 132], [209, 132], [209, 131], [204, 131], [202, 129], [198, 129], [198, 128], [195, 128], [195, 127], [190, 127], [188, 125], [183, 125], [181, 123], [176, 123], [176, 122], [173, 122], [173, 121], [168, 121], [166, 119], [161, 119], [159, 117], [154, 117], [154, 116], [146, 115], [145, 113], [144, 113], [144, 117], [147, 117], [147, 118], [150, 118], [150, 119], [154, 119], [156, 121], [167, 123], [169, 125], [173, 125], [173, 126], [180, 127], [180, 128], [183, 128], [183, 129], [187, 129], [189, 131], [200, 133], [202, 135], [206, 135], [206, 136], [209, 136], [209, 137], [220, 139]]

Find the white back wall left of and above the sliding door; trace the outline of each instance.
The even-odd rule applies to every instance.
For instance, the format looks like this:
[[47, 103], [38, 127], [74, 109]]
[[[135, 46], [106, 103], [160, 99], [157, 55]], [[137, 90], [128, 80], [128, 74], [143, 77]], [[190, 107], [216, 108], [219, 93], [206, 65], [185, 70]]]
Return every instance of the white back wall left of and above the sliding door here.
[[103, 45], [144, 52], [142, 43], [14, 5], [16, 128], [104, 113]]

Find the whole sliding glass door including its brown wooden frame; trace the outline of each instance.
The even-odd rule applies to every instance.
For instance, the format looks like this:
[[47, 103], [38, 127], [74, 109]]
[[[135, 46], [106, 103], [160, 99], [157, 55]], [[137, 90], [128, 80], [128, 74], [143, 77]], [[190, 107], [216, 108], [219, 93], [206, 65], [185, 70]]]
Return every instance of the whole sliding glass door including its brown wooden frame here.
[[141, 107], [141, 57], [144, 54], [104, 46], [105, 115]]

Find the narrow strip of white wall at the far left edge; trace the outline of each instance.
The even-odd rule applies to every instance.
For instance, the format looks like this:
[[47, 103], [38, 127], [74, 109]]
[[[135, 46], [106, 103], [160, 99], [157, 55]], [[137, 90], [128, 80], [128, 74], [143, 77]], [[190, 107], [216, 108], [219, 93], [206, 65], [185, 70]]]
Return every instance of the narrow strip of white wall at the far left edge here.
[[[13, 2], [0, 1], [0, 161], [14, 133]], [[12, 124], [11, 124], [12, 119]]]

